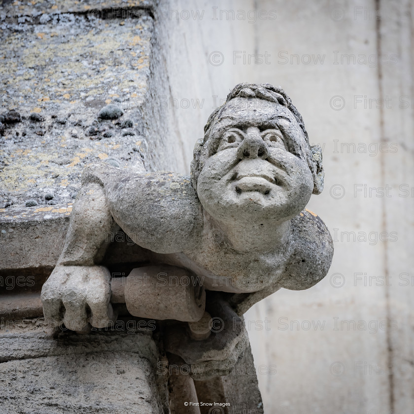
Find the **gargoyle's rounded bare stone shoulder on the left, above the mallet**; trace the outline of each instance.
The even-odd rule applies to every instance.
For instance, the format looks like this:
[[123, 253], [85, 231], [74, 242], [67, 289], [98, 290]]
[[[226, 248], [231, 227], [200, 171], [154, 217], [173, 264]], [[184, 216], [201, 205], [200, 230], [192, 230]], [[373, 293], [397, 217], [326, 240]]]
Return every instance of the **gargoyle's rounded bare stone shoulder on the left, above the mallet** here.
[[157, 253], [189, 249], [202, 233], [202, 210], [190, 177], [89, 166], [83, 180], [100, 182], [112, 217], [138, 245]]

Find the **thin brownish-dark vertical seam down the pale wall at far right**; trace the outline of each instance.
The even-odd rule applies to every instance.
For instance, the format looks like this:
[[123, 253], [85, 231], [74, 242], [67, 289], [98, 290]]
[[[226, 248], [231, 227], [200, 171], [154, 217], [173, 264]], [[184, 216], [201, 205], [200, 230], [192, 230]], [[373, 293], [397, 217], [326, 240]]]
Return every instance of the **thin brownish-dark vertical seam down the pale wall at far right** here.
[[[380, 10], [381, 10], [381, 0], [375, 0], [375, 10], [377, 11], [377, 19], [376, 19], [376, 42], [377, 42], [377, 58], [378, 58], [378, 89], [380, 99], [384, 99], [384, 91], [383, 91], [383, 73], [382, 73], [382, 63], [380, 60], [381, 56], [381, 48], [382, 48], [382, 38], [381, 38], [381, 18], [380, 18]], [[384, 102], [384, 101], [381, 101]], [[386, 142], [385, 131], [384, 131], [384, 109], [383, 106], [380, 105], [380, 142]], [[385, 159], [384, 154], [380, 153], [380, 177], [381, 182], [384, 184], [385, 182]], [[382, 221], [381, 221], [381, 228], [382, 231], [386, 231], [387, 229], [387, 219], [386, 219], [386, 207], [385, 207], [386, 199], [385, 197], [381, 198], [381, 212], [382, 212]], [[384, 267], [384, 276], [385, 280], [388, 280], [389, 272], [388, 272], [388, 243], [384, 242], [384, 254], [383, 254], [383, 267]], [[385, 283], [385, 312], [386, 312], [386, 320], [387, 320], [387, 330], [386, 330], [386, 343], [387, 343], [387, 366], [389, 369], [388, 375], [388, 385], [389, 385], [389, 408], [391, 413], [394, 412], [395, 407], [395, 395], [394, 395], [394, 374], [393, 374], [393, 367], [392, 367], [392, 338], [391, 338], [391, 312], [390, 312], [390, 292], [388, 288], [388, 283]]]

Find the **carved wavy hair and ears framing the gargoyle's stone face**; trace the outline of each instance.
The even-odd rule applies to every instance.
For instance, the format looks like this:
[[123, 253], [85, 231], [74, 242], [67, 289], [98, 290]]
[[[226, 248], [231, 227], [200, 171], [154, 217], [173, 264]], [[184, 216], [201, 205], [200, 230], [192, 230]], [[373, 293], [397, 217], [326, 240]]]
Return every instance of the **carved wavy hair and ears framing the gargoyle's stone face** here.
[[204, 127], [204, 138], [198, 139], [194, 147], [194, 158], [191, 162], [191, 181], [194, 188], [197, 190], [197, 180], [203, 169], [203, 159], [207, 156], [207, 140], [210, 136], [211, 127], [214, 124], [215, 119], [220, 116], [225, 105], [234, 98], [259, 98], [269, 102], [275, 102], [280, 105], [286, 106], [287, 109], [292, 112], [299, 126], [303, 131], [305, 142], [307, 146], [306, 158], [308, 161], [309, 169], [313, 175], [314, 189], [313, 194], [319, 194], [323, 189], [323, 168], [322, 168], [322, 150], [319, 145], [311, 147], [309, 143], [308, 133], [305, 129], [305, 123], [303, 122], [302, 115], [292, 104], [291, 99], [286, 95], [285, 91], [281, 88], [277, 88], [270, 83], [262, 83], [260, 85], [254, 83], [239, 83], [233, 90], [227, 95], [226, 102], [220, 107], [214, 109], [211, 115], [208, 117], [207, 124]]

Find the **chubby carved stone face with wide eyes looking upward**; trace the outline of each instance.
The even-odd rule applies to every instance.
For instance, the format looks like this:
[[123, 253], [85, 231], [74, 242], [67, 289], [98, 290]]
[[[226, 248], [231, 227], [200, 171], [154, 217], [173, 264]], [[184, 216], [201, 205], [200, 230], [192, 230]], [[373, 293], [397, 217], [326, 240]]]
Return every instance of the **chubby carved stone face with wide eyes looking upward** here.
[[205, 145], [197, 193], [213, 218], [277, 224], [299, 214], [311, 198], [307, 144], [285, 106], [232, 99], [215, 119]]

